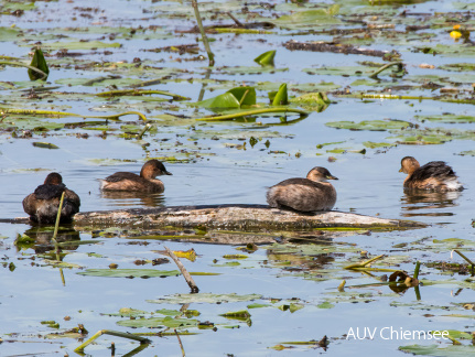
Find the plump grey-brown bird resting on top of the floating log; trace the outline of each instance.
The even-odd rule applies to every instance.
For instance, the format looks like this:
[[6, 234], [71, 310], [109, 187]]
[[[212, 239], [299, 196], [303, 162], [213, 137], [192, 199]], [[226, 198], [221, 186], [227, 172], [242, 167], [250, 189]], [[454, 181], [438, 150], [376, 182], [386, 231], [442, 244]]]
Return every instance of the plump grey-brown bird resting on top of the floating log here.
[[306, 178], [289, 178], [270, 187], [267, 202], [276, 208], [331, 210], [336, 202], [336, 191], [327, 180], [338, 178], [325, 167], [313, 167]]

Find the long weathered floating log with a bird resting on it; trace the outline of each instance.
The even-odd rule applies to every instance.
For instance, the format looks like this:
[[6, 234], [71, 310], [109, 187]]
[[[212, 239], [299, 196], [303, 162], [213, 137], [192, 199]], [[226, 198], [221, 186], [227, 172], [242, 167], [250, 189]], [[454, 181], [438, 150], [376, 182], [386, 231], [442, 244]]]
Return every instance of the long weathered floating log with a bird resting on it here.
[[238, 231], [309, 230], [314, 228], [406, 229], [422, 228], [413, 220], [385, 219], [337, 210], [302, 214], [265, 205], [175, 206], [86, 212], [74, 216], [74, 226], [140, 229], [199, 228]]

